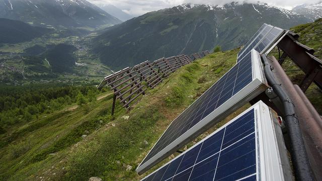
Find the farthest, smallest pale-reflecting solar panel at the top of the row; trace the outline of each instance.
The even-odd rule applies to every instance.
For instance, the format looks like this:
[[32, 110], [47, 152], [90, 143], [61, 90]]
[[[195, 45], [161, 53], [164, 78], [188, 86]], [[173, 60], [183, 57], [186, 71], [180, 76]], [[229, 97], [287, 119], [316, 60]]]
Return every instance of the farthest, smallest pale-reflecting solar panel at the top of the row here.
[[252, 49], [257, 50], [260, 54], [266, 53], [266, 51], [278, 40], [279, 37], [282, 36], [283, 33], [283, 29], [266, 25], [252, 43], [249, 45], [246, 44], [245, 47], [238, 52], [237, 62], [245, 57]]

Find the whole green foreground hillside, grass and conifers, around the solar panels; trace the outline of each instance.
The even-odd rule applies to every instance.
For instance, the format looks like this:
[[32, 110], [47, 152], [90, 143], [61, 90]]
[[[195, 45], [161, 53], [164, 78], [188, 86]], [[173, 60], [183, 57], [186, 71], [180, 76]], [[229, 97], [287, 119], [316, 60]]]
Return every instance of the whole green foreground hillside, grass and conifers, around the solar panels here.
[[[303, 43], [319, 47], [319, 52], [321, 21], [292, 29], [301, 35]], [[179, 68], [154, 89], [148, 89], [132, 109], [125, 110], [117, 104], [113, 117], [112, 92], [99, 92], [93, 84], [1, 85], [0, 180], [143, 178], [148, 173], [137, 175], [137, 164], [171, 121], [235, 64], [238, 51], [239, 48], [212, 53]], [[290, 61], [283, 66], [285, 70], [296, 69]], [[300, 71], [288, 73], [295, 82], [302, 76]], [[322, 114], [321, 90], [310, 86], [306, 96]], [[240, 108], [183, 150], [249, 106]]]

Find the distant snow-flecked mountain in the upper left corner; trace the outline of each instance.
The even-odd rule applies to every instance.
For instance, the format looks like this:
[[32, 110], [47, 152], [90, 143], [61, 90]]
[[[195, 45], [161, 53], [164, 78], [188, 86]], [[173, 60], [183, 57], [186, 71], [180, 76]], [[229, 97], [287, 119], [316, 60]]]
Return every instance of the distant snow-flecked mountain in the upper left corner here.
[[121, 22], [85, 0], [2, 0], [0, 18], [48, 27], [96, 28]]

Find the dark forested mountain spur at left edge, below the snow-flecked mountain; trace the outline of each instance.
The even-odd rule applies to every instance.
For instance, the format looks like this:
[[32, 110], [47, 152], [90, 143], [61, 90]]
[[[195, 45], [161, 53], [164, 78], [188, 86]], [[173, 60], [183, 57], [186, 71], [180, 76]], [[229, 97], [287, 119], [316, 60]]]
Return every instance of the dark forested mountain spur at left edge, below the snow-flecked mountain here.
[[0, 44], [30, 41], [52, 31], [48, 28], [33, 27], [21, 21], [4, 18], [0, 18], [0, 27]]

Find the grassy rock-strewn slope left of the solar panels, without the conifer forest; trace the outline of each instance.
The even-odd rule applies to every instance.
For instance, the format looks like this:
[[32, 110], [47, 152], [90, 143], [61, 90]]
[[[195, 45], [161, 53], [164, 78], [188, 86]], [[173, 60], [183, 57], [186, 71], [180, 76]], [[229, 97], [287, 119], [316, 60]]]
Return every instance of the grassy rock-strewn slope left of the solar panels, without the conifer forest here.
[[[123, 109], [118, 109], [119, 116], [116, 115], [114, 120], [109, 116], [100, 118], [110, 114], [109, 97], [65, 111], [50, 124], [16, 139], [15, 144], [20, 140], [31, 141], [28, 151], [20, 157], [11, 160], [11, 148], [0, 149], [5, 155], [0, 163], [2, 178], [88, 180], [91, 176], [100, 176], [106, 180], [139, 179], [142, 176], [138, 176], [134, 169], [153, 143], [171, 120], [235, 63], [237, 51], [218, 52], [180, 68], [162, 84], [149, 90], [132, 110], [124, 113]], [[125, 120], [123, 115], [129, 119]], [[99, 123], [100, 119], [104, 122]], [[80, 125], [86, 121], [93, 124], [82, 128]], [[82, 139], [85, 130], [92, 134]], [[126, 171], [127, 165], [133, 168]]]

